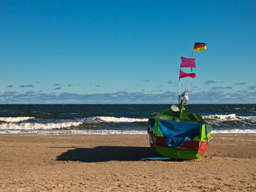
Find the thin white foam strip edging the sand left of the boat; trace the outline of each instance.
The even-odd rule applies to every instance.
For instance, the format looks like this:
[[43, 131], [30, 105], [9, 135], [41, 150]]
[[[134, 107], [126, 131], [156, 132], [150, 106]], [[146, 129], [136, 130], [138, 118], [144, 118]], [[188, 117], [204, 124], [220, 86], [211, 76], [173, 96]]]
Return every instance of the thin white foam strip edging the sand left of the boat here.
[[147, 134], [147, 131], [124, 130], [0, 130], [0, 134]]

